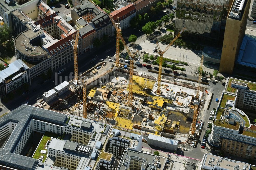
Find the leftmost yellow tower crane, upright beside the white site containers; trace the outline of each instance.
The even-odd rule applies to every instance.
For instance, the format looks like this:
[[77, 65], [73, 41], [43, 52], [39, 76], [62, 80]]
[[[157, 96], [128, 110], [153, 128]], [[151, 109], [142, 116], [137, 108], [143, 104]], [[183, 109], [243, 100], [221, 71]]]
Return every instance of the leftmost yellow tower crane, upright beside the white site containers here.
[[74, 48], [74, 84], [77, 85], [78, 81], [78, 68], [77, 68], [77, 48], [78, 48], [78, 39], [79, 39], [79, 30], [77, 34], [73, 34], [73, 43], [72, 46]]

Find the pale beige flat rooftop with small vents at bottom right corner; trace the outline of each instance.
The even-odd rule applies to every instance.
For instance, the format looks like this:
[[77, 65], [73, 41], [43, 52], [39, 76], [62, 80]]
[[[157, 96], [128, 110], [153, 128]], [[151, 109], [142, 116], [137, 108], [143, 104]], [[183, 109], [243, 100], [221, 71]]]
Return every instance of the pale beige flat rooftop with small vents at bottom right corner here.
[[234, 167], [238, 166], [239, 169], [243, 169], [246, 167], [246, 170], [250, 169], [250, 164], [226, 159], [220, 156], [212, 155], [212, 154], [205, 154], [203, 164], [204, 166], [212, 167], [212, 168], [223, 168], [223, 169], [230, 169], [233, 170]]

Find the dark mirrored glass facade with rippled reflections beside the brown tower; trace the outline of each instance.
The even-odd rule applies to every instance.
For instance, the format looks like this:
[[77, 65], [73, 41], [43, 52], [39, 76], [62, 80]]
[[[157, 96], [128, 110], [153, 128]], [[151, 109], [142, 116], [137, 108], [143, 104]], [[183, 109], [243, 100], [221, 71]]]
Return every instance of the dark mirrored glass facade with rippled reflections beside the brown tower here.
[[178, 0], [175, 33], [186, 27], [182, 37], [222, 46], [229, 0]]

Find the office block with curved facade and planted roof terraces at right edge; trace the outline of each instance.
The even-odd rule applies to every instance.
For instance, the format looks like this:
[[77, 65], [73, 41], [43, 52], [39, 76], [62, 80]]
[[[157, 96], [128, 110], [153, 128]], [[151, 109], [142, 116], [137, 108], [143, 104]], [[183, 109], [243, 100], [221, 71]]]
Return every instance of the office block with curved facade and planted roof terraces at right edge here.
[[256, 110], [255, 83], [228, 77], [208, 138], [225, 156], [256, 159], [256, 126], [247, 112]]

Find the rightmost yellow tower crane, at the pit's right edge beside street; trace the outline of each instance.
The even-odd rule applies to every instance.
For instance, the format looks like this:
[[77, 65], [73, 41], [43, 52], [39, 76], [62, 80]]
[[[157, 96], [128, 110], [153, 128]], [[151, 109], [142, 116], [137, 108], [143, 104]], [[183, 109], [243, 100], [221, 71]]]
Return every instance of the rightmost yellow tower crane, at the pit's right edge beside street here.
[[200, 100], [199, 100], [199, 91], [200, 91], [200, 85], [201, 85], [203, 63], [204, 63], [204, 56], [202, 55], [202, 58], [201, 58], [201, 65], [200, 65], [199, 75], [198, 75], [197, 93], [196, 93], [195, 100], [194, 100], [195, 108], [194, 108], [193, 122], [192, 122], [192, 127], [191, 127], [191, 135], [194, 135], [195, 132], [196, 132], [196, 119], [197, 119], [197, 110], [198, 110], [198, 106], [199, 106], [199, 104], [200, 104]]

